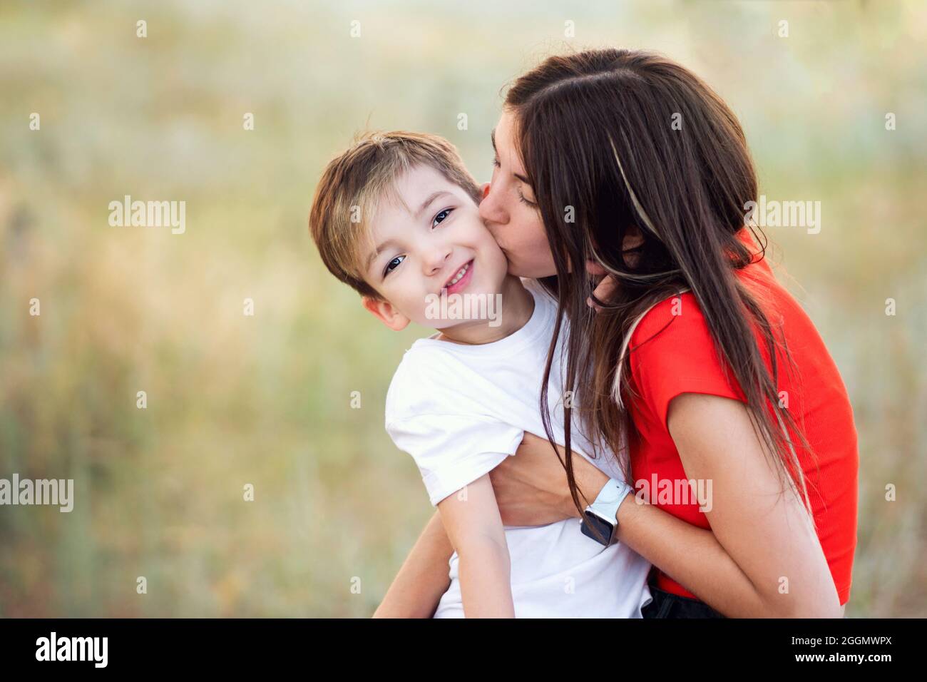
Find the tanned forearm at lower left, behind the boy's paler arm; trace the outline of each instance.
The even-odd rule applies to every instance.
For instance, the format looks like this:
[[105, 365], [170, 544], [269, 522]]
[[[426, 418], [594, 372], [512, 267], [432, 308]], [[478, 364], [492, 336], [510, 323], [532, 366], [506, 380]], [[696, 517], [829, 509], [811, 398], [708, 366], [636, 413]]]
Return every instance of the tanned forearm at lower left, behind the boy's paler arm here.
[[451, 585], [448, 561], [453, 552], [441, 512], [436, 511], [402, 562], [374, 618], [431, 618]]

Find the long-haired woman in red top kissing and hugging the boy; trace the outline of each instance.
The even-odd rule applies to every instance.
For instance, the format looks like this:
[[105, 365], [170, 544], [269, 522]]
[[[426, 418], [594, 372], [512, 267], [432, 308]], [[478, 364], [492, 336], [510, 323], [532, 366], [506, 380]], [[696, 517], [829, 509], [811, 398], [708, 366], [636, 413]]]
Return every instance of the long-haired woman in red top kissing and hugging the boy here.
[[[617, 508], [616, 537], [654, 564], [645, 615], [843, 615], [852, 409], [745, 227], [756, 174], [730, 109], [665, 58], [595, 50], [519, 78], [493, 145], [480, 213], [510, 273], [559, 301], [581, 423], [628, 445], [639, 495]], [[607, 482], [573, 457], [566, 412], [564, 448], [527, 434], [493, 470], [506, 524], [582, 517]], [[375, 615], [430, 616], [451, 552], [432, 519]]]

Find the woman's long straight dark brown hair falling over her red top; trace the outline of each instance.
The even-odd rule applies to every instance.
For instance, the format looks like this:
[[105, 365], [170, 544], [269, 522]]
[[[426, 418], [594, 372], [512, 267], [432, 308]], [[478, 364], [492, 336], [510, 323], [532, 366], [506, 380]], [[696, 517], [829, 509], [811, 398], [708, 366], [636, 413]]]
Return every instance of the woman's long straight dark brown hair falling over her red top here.
[[[784, 338], [735, 274], [753, 258], [737, 233], [757, 187], [743, 130], [728, 106], [667, 58], [605, 49], [548, 58], [514, 82], [505, 108], [514, 113], [516, 144], [557, 271], [542, 280], [559, 301], [540, 401], [552, 444], [547, 385], [564, 316], [569, 320], [564, 391], [579, 405], [565, 402], [561, 461], [580, 513], [573, 408], [596, 448], [604, 443], [617, 453], [623, 435], [636, 436], [628, 409], [630, 334], [655, 303], [683, 290], [698, 302], [781, 482], [797, 485], [807, 506], [794, 443], [806, 447], [806, 440], [780, 406], [777, 347], [789, 360], [782, 364], [791, 360]], [[638, 233], [640, 246], [626, 251], [626, 236], [630, 243]], [[754, 234], [765, 253], [765, 238]], [[587, 260], [618, 283], [609, 301], [596, 300], [597, 314], [586, 302], [595, 286]], [[620, 463], [630, 481], [627, 457]]]

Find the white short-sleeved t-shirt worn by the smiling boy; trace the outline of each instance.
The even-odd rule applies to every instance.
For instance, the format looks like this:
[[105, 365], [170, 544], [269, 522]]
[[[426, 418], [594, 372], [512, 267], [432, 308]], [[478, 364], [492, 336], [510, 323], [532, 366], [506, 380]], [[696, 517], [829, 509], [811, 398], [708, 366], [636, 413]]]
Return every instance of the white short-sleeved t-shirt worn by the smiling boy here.
[[[523, 328], [482, 345], [419, 339], [403, 355], [390, 383], [387, 432], [414, 458], [432, 505], [514, 455], [525, 431], [546, 437], [540, 385], [556, 303], [534, 280], [523, 282], [535, 301]], [[557, 358], [563, 357], [567, 331], [560, 334], [548, 388], [551, 426], [561, 445], [563, 380]], [[586, 457], [592, 449], [579, 432], [578, 418], [571, 435], [574, 454]], [[610, 451], [586, 458], [621, 480]], [[651, 600], [650, 563], [623, 544], [603, 547], [580, 532], [580, 523], [574, 518], [505, 526], [516, 617], [641, 617], [641, 607]], [[449, 567], [451, 586], [438, 603], [436, 618], [464, 616], [456, 552]]]

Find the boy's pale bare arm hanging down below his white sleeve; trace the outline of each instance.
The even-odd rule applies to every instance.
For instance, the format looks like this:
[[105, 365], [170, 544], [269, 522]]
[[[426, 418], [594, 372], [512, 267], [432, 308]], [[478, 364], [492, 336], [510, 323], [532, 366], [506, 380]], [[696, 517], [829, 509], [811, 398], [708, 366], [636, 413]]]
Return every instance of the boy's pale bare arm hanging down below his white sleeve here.
[[438, 502], [438, 511], [457, 549], [464, 616], [514, 618], [509, 548], [489, 474]]

